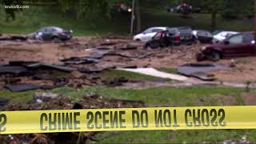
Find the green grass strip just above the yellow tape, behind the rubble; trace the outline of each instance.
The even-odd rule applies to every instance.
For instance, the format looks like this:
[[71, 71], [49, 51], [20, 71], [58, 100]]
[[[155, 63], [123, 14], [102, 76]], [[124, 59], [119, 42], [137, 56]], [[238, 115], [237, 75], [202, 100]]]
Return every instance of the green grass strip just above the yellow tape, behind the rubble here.
[[[13, 93], [9, 90], [0, 91], [0, 97], [11, 98], [12, 102], [26, 103], [32, 100], [35, 92], [42, 90], [29, 90], [26, 92]], [[52, 93], [72, 99], [82, 98], [85, 94], [95, 93], [104, 98], [134, 99], [146, 102], [147, 106], [225, 106], [227, 102], [218, 101], [222, 97], [234, 97], [234, 105], [242, 105], [240, 94], [243, 89], [204, 86], [204, 87], [157, 87], [146, 90], [115, 89], [105, 86], [89, 86], [82, 90], [70, 87], [60, 87], [54, 90], [47, 90]], [[218, 94], [218, 96], [216, 96]], [[218, 99], [217, 99], [218, 98]]]

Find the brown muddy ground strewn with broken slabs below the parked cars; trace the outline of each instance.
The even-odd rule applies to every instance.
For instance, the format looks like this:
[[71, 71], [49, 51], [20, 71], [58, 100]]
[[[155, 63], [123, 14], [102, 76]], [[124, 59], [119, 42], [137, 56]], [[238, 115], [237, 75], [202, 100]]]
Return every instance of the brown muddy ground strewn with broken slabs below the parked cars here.
[[[128, 45], [128, 46], [127, 46]], [[0, 64], [10, 61], [34, 61], [50, 64], [62, 64], [65, 58], [84, 57], [94, 53], [114, 53], [101, 58], [104, 65], [110, 66], [138, 66], [138, 67], [171, 67], [194, 63], [195, 54], [202, 47], [201, 44], [191, 46], [171, 46], [162, 49], [145, 50], [144, 43], [133, 42], [129, 38], [89, 38], [77, 37], [70, 42], [0, 42]], [[126, 47], [136, 49], [125, 49]], [[122, 55], [118, 55], [122, 54]], [[256, 58], [234, 58], [236, 66], [231, 70], [211, 72], [221, 82], [255, 82], [254, 66]], [[213, 63], [213, 62], [202, 62]], [[215, 62], [226, 66], [230, 59]], [[80, 65], [83, 66], [84, 65]], [[106, 66], [106, 67], [107, 67]], [[79, 66], [78, 66], [79, 67]]]

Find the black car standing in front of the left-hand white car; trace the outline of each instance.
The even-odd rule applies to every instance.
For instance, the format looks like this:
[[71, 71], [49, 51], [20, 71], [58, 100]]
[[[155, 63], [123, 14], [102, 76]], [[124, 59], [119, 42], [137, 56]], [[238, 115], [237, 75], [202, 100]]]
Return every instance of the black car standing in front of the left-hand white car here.
[[169, 30], [158, 31], [154, 37], [146, 42], [144, 48], [158, 48], [158, 47], [166, 47], [171, 46], [173, 44], [173, 39], [171, 37]]

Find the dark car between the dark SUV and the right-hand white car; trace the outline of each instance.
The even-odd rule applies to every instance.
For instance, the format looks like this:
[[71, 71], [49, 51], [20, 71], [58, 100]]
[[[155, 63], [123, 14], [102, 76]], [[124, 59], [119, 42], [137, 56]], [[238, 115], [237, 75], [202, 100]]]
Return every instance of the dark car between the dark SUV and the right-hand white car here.
[[213, 41], [213, 34], [207, 30], [193, 30], [192, 34], [194, 38], [201, 43], [211, 43]]

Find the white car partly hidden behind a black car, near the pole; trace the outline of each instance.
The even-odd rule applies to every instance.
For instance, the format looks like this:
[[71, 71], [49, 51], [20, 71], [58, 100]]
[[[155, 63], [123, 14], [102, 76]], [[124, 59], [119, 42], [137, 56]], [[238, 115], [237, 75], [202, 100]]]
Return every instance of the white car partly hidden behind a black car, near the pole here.
[[168, 27], [164, 26], [151, 27], [143, 31], [141, 34], [134, 35], [134, 41], [148, 42], [154, 37], [155, 34], [157, 34], [158, 31], [166, 30], [167, 28]]

